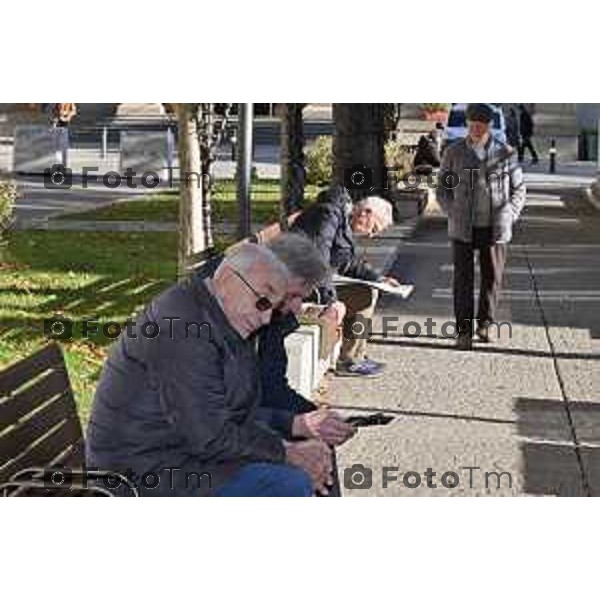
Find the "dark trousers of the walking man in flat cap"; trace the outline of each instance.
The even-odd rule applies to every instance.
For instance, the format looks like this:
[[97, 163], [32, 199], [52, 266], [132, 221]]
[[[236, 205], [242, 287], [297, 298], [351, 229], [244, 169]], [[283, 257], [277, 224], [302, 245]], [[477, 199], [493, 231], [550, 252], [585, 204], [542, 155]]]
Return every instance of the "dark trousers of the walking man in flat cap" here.
[[472, 243], [453, 240], [454, 314], [460, 332], [473, 333], [475, 316], [475, 250], [479, 251], [481, 285], [479, 288], [478, 323], [495, 320], [498, 294], [506, 264], [506, 244], [494, 244], [492, 229], [473, 229]]

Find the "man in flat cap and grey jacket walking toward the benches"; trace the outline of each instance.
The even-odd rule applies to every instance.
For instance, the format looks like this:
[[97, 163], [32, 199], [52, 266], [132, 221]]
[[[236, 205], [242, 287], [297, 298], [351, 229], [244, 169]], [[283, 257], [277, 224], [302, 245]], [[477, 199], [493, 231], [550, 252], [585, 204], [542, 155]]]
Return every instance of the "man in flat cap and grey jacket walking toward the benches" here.
[[448, 215], [452, 240], [460, 350], [472, 347], [475, 250], [479, 251], [481, 271], [477, 335], [488, 342], [507, 245], [525, 204], [523, 173], [515, 152], [491, 135], [493, 115], [489, 104], [467, 107], [467, 137], [446, 149], [439, 174], [438, 200]]

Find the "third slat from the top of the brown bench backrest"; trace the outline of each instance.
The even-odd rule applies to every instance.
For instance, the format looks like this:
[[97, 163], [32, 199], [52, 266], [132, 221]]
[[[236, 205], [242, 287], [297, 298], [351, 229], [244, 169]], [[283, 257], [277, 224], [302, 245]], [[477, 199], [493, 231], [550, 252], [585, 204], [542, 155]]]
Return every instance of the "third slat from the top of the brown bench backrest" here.
[[[64, 392], [55, 401], [39, 410], [31, 418], [22, 421], [14, 429], [0, 434], [0, 465], [21, 454], [35, 440], [48, 433], [63, 420], [73, 419], [79, 423], [73, 394]], [[74, 429], [65, 429], [64, 447], [77, 441]], [[79, 426], [79, 437], [81, 437]]]

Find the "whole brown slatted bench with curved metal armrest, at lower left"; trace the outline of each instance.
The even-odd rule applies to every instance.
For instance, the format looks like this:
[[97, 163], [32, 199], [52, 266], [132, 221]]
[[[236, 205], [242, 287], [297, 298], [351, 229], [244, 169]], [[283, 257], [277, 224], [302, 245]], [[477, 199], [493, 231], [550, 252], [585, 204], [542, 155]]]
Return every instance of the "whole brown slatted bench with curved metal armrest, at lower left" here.
[[92, 476], [85, 466], [83, 431], [59, 346], [0, 371], [0, 495], [112, 495], [90, 485], [107, 473]]

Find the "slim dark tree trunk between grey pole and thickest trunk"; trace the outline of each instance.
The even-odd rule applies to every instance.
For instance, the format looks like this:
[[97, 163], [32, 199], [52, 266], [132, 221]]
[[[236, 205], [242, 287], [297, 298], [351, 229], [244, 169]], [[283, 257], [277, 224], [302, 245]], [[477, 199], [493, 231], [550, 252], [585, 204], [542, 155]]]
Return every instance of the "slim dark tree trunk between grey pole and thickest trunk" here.
[[287, 229], [287, 217], [299, 210], [304, 201], [306, 171], [304, 168], [305, 104], [284, 104], [281, 114], [281, 227]]

